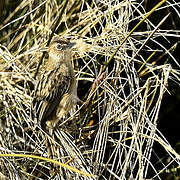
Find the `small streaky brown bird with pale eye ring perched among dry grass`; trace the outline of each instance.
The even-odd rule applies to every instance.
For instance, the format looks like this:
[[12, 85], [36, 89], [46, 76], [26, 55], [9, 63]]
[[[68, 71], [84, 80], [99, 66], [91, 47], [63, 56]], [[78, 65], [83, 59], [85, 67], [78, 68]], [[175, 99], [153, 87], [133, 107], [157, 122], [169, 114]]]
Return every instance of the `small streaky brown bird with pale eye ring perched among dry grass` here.
[[54, 38], [48, 47], [48, 60], [35, 85], [32, 111], [42, 129], [55, 128], [78, 102], [77, 82], [72, 67], [75, 43]]

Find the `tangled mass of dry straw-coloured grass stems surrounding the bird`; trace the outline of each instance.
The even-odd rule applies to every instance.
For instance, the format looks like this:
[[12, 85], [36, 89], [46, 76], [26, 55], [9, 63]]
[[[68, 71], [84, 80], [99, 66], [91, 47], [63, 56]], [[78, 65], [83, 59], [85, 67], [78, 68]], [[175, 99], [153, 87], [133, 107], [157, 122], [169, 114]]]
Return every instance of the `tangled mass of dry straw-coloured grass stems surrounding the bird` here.
[[[177, 171], [180, 155], [157, 123], [169, 81], [180, 83], [180, 65], [172, 55], [178, 41], [169, 42], [179, 38], [179, 31], [161, 26], [169, 11], [179, 18], [180, 7], [174, 0], [163, 0], [147, 13], [143, 3], [22, 0], [4, 18], [0, 24], [2, 179], [161, 179], [172, 164]], [[153, 11], [166, 15], [154, 24]], [[42, 50], [53, 35], [77, 44], [73, 66], [78, 95], [84, 101], [59, 124], [56, 138], [30, 116], [34, 85], [47, 59]], [[53, 159], [48, 158], [46, 139], [53, 144]], [[170, 157], [167, 164], [159, 160], [154, 144]], [[52, 163], [58, 165], [53, 174]]]

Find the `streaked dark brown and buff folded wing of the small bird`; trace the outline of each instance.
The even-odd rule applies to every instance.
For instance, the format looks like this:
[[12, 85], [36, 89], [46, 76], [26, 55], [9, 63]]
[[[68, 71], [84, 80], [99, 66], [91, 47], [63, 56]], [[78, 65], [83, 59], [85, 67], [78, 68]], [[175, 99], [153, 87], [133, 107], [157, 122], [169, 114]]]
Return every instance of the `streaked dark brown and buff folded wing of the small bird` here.
[[42, 124], [53, 113], [63, 95], [68, 92], [72, 79], [57, 71], [45, 72], [38, 82], [33, 99], [33, 111]]

